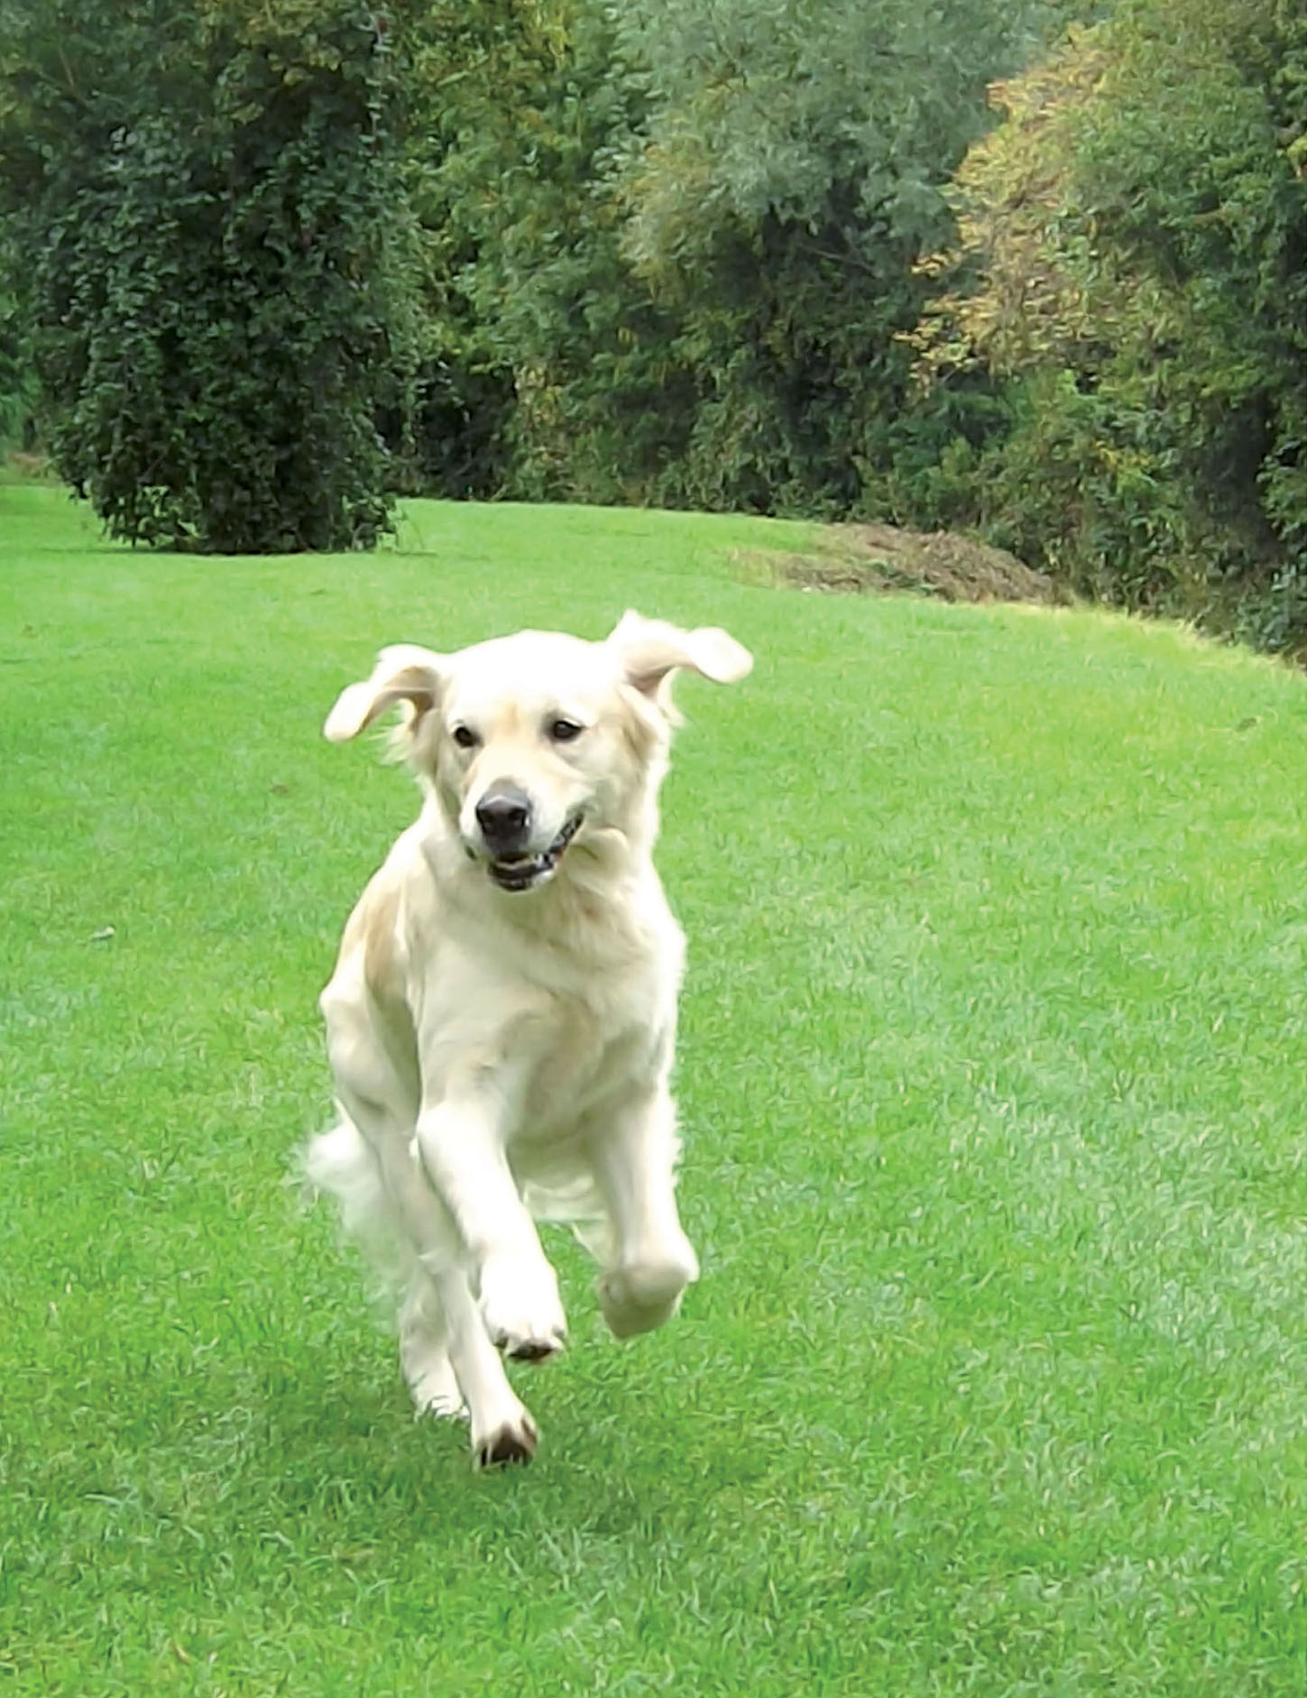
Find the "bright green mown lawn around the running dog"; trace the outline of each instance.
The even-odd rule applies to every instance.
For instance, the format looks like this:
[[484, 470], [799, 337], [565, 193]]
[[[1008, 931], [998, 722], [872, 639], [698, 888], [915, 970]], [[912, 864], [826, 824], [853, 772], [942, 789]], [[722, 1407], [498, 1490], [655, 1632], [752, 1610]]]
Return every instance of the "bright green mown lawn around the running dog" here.
[[[1302, 1691], [1307, 681], [735, 579], [796, 535], [205, 562], [0, 487], [0, 1693]], [[289, 1180], [414, 808], [319, 725], [628, 604], [757, 654], [660, 851], [704, 1277], [623, 1348], [550, 1238], [541, 1453], [474, 1477]]]

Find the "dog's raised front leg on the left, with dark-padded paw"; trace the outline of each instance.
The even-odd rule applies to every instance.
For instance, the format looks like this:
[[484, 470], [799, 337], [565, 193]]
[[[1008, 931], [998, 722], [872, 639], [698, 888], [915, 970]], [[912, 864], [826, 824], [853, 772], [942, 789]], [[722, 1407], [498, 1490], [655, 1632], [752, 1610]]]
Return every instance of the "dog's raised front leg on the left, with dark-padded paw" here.
[[499, 1104], [467, 1095], [424, 1105], [418, 1150], [458, 1228], [491, 1340], [519, 1362], [562, 1350], [567, 1318], [558, 1280], [509, 1172]]

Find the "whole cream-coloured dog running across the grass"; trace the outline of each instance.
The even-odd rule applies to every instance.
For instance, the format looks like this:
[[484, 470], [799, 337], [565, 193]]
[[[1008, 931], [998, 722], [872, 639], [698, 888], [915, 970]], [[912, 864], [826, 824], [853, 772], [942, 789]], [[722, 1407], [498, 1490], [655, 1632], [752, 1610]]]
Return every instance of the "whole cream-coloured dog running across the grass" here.
[[667, 1088], [684, 941], [652, 849], [670, 674], [750, 664], [628, 613], [604, 642], [385, 649], [328, 717], [343, 742], [402, 705], [424, 800], [323, 992], [341, 1121], [309, 1173], [402, 1284], [419, 1413], [467, 1413], [482, 1465], [536, 1448], [499, 1352], [543, 1360], [567, 1331], [536, 1219], [577, 1224], [620, 1338], [698, 1277]]

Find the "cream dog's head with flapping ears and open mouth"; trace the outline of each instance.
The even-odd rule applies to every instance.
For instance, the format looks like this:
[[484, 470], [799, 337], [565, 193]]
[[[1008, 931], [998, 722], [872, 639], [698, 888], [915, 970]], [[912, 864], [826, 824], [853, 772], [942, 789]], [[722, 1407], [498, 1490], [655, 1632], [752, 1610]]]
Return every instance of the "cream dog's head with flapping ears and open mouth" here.
[[628, 613], [604, 642], [518, 632], [458, 654], [384, 649], [324, 734], [346, 742], [404, 705], [401, 747], [468, 861], [501, 890], [547, 885], [569, 851], [654, 830], [677, 669], [728, 684], [752, 667], [723, 630]]

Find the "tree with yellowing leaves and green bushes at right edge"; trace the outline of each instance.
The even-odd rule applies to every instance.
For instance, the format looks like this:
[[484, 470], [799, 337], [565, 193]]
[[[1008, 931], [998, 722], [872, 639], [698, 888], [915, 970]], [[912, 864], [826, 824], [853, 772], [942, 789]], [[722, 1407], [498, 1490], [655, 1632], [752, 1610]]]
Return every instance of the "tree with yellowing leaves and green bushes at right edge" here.
[[935, 389], [1010, 384], [968, 474], [1005, 542], [1273, 647], [1307, 640], [1305, 95], [1285, 0], [1127, 0], [1073, 32], [996, 87], [915, 336]]

